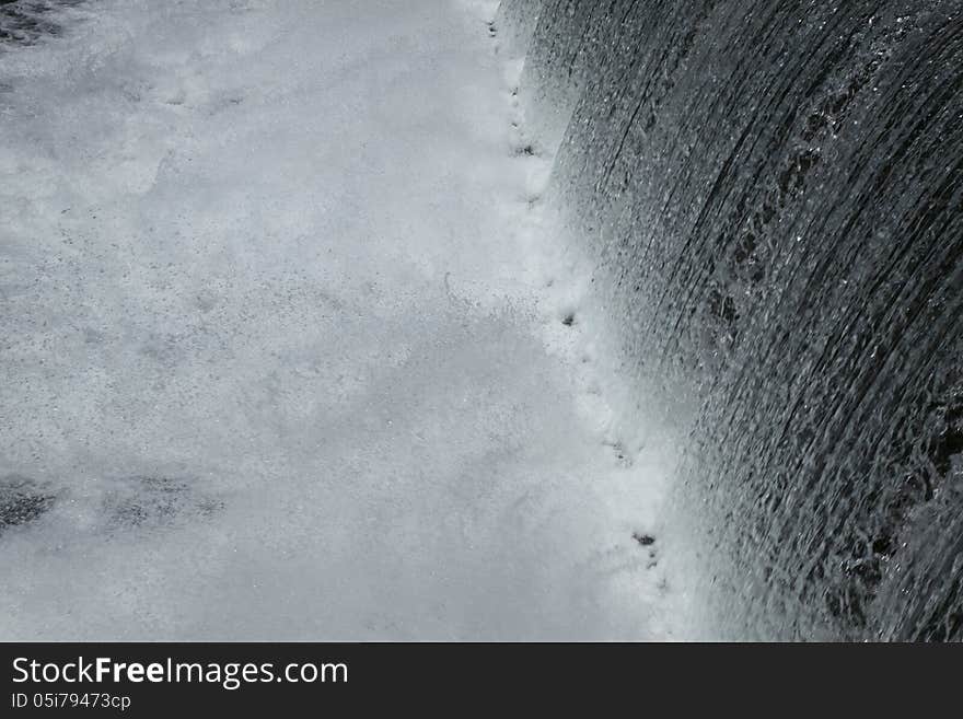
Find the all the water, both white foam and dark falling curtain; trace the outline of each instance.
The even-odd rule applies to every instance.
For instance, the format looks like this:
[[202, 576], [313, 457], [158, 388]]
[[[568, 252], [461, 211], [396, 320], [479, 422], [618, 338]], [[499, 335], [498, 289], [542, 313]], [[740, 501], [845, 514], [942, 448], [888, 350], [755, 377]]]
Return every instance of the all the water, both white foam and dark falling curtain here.
[[963, 639], [963, 1], [494, 4], [0, 0], [0, 636]]

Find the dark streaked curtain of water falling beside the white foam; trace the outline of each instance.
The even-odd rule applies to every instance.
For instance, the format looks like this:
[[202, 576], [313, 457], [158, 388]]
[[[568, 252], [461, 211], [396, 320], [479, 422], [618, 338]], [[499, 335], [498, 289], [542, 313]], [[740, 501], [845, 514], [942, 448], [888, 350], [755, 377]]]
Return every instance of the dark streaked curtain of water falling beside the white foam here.
[[963, 638], [963, 3], [496, 26], [640, 385], [695, 406], [680, 507], [720, 635]]

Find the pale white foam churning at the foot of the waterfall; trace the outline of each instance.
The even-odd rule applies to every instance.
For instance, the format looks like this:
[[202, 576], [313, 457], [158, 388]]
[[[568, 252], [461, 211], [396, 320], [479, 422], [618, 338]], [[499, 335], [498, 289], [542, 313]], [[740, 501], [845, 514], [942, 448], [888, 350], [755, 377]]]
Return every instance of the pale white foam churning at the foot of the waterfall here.
[[102, 2], [0, 57], [0, 474], [57, 498], [0, 637], [672, 636], [489, 5]]

